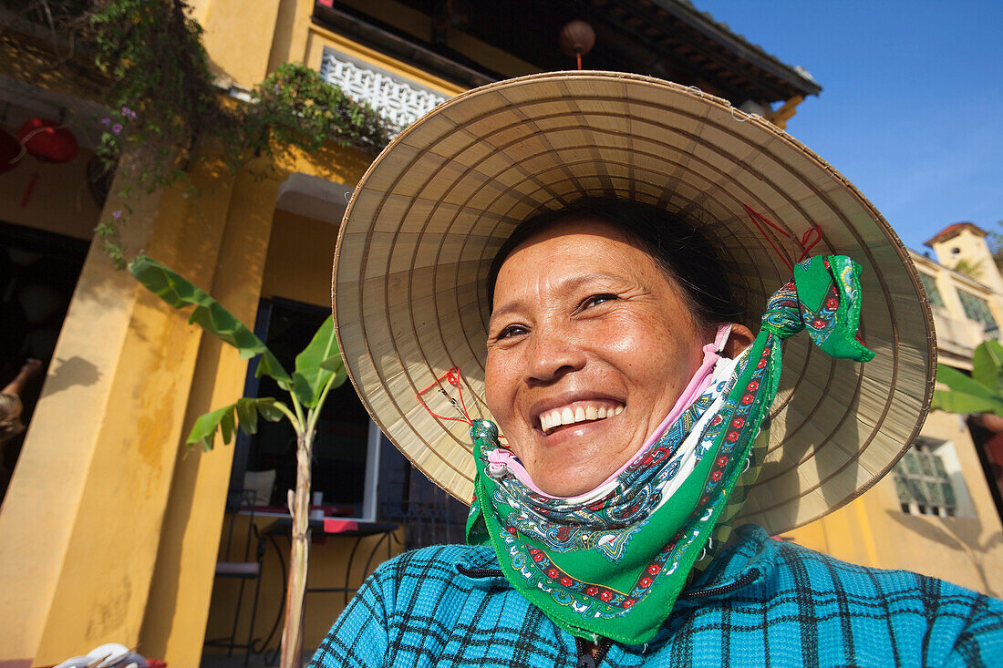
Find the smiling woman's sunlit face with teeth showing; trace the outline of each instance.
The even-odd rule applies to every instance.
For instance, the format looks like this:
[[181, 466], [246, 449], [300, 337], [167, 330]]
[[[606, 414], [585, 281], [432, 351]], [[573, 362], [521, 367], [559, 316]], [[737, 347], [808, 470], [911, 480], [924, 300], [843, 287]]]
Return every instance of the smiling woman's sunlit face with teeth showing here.
[[713, 334], [617, 228], [559, 223], [516, 247], [498, 272], [487, 407], [541, 489], [580, 494], [665, 419]]

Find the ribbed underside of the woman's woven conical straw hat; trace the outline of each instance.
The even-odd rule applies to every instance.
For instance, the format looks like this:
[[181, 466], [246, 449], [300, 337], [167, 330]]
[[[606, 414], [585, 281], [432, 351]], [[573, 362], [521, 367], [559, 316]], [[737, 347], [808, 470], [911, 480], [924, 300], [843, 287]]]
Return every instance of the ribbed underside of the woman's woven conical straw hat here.
[[923, 288], [892, 228], [763, 119], [692, 88], [588, 71], [500, 81], [444, 102], [355, 189], [334, 267], [338, 343], [373, 419], [415, 466], [470, 502], [468, 427], [446, 418], [460, 417], [460, 404], [489, 417], [488, 267], [519, 222], [585, 195], [681, 212], [716, 245], [756, 317], [791, 276], [780, 255], [796, 262], [810, 230], [820, 231], [810, 254], [859, 262], [862, 334], [877, 355], [834, 360], [806, 335], [784, 344], [769, 450], [742, 516], [787, 531], [888, 472], [919, 433], [936, 367]]

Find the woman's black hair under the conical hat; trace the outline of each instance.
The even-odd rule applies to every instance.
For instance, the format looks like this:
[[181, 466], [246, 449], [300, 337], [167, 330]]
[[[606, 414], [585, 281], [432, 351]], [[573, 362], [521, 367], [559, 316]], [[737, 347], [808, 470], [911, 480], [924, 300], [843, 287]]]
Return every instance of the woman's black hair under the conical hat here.
[[637, 241], [682, 288], [696, 322], [714, 325], [742, 321], [744, 310], [733, 296], [724, 267], [700, 233], [678, 215], [643, 202], [616, 198], [586, 197], [563, 209], [538, 212], [523, 221], [491, 262], [487, 273], [489, 303], [494, 300], [494, 283], [501, 265], [516, 247], [570, 220], [608, 223]]

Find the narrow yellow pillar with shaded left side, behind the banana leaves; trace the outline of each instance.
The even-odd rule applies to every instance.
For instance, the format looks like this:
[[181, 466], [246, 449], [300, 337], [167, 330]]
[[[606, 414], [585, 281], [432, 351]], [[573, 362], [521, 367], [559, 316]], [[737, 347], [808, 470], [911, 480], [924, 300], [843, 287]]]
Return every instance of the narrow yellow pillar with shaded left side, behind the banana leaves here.
[[[279, 182], [241, 173], [234, 187], [212, 294], [253, 326]], [[203, 413], [242, 396], [247, 360], [204, 336], [185, 417], [185, 433]], [[156, 568], [139, 639], [143, 652], [172, 666], [197, 666], [213, 593], [233, 443], [178, 457]]]

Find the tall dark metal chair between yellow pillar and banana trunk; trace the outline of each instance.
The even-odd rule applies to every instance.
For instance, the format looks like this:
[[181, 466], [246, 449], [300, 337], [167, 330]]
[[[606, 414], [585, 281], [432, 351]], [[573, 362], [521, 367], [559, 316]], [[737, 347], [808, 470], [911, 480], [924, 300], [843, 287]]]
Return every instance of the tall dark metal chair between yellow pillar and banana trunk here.
[[[234, 625], [230, 635], [225, 638], [207, 640], [207, 647], [227, 647], [227, 656], [232, 656], [234, 648], [244, 648], [244, 665], [248, 665], [253, 651], [254, 625], [258, 616], [258, 595], [261, 592], [261, 571], [265, 558], [265, 537], [255, 525], [255, 492], [253, 489], [231, 489], [227, 494], [227, 529], [226, 538], [220, 550], [220, 561], [216, 563], [217, 578], [236, 578], [240, 582], [237, 593], [237, 606], [234, 611]], [[234, 545], [234, 528], [238, 522], [247, 521], [247, 534], [241, 549], [240, 535], [238, 545]], [[244, 588], [248, 581], [255, 581], [254, 603], [251, 609], [251, 625], [248, 629], [246, 643], [237, 643], [237, 624], [241, 618], [241, 608], [244, 603]]]

